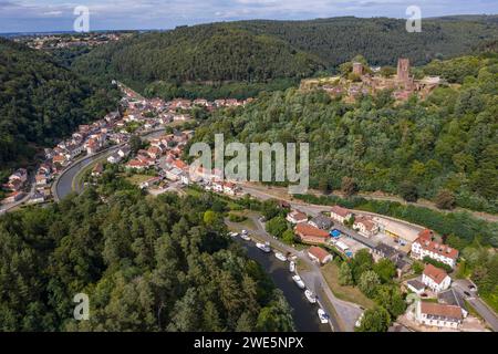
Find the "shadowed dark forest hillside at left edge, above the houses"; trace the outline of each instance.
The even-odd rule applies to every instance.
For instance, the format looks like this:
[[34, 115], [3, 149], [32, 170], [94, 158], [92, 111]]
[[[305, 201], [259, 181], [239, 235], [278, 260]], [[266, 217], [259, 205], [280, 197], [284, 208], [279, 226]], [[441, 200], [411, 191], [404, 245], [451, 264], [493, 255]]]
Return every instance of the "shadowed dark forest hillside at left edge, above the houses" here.
[[0, 39], [0, 170], [32, 162], [82, 123], [103, 117], [117, 92], [97, 88], [40, 51]]

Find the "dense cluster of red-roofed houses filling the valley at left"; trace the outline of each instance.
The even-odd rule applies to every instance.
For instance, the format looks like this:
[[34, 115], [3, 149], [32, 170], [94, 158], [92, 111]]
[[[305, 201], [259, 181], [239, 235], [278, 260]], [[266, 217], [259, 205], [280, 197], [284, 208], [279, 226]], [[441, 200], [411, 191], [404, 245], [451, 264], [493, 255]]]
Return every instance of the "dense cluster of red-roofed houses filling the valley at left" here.
[[[160, 177], [173, 180], [180, 180], [188, 184], [186, 176], [187, 165], [179, 157], [183, 154], [188, 139], [193, 136], [193, 131], [178, 132], [163, 135], [164, 126], [168, 124], [178, 125], [191, 121], [189, 111], [194, 107], [201, 107], [212, 111], [221, 107], [242, 106], [251, 100], [238, 101], [216, 100], [208, 102], [198, 98], [195, 101], [178, 98], [164, 102], [159, 98], [146, 100], [128, 87], [118, 85], [124, 93], [120, 106], [125, 110], [123, 116], [118, 112], [107, 114], [104, 118], [92, 124], [81, 125], [71, 138], [60, 142], [53, 148], [45, 148], [45, 160], [40, 164], [33, 176], [30, 176], [25, 168], [19, 168], [2, 186], [9, 194], [1, 201], [0, 214], [20, 207], [21, 205], [39, 205], [54, 199], [53, 184], [64, 171], [87, 157], [100, 153], [113, 152], [107, 162], [117, 164], [126, 158], [129, 153], [129, 139], [132, 135], [157, 137], [151, 139], [147, 149], [139, 149], [132, 159], [126, 163], [126, 168], [134, 171], [144, 171], [152, 167], [162, 169]], [[96, 166], [94, 175], [98, 174], [100, 165]], [[199, 171], [199, 176], [209, 177], [209, 173]], [[209, 179], [209, 178], [208, 178]], [[162, 179], [151, 178], [143, 180], [142, 186], [152, 187]], [[209, 184], [209, 186], [211, 186]], [[206, 185], [206, 188], [209, 188]], [[212, 185], [212, 188], [230, 189], [229, 184], [224, 186]], [[231, 188], [235, 188], [234, 186]], [[56, 197], [56, 196], [55, 196]], [[56, 199], [56, 198], [55, 198]]]

